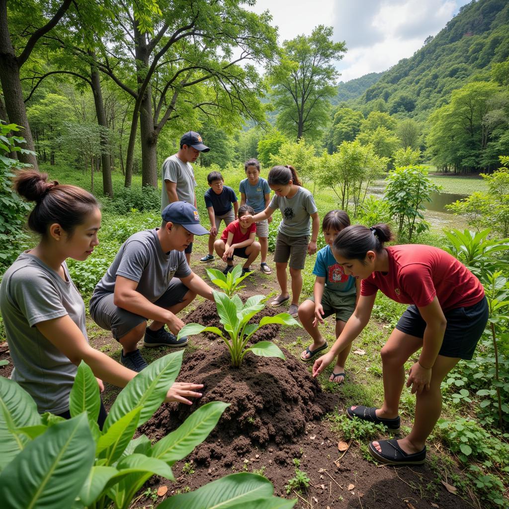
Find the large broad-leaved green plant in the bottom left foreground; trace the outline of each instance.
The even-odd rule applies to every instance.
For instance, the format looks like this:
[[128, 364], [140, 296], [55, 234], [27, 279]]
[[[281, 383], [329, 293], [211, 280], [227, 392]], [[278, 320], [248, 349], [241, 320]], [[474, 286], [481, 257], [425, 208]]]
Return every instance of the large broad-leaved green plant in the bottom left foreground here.
[[[205, 440], [228, 407], [221, 402], [203, 405], [153, 445], [146, 435], [132, 439], [136, 428], [164, 401], [180, 370], [182, 354], [161, 357], [134, 377], [112, 405], [102, 432], [96, 422], [97, 381], [84, 362], [71, 391], [69, 420], [50, 413], [39, 415], [27, 392], [0, 377], [2, 508], [126, 509], [152, 475], [173, 480], [172, 465]], [[234, 474], [195, 492], [170, 497], [161, 507], [238, 507], [240, 501], [244, 508], [253, 509], [295, 504], [273, 497], [272, 492], [264, 477]]]

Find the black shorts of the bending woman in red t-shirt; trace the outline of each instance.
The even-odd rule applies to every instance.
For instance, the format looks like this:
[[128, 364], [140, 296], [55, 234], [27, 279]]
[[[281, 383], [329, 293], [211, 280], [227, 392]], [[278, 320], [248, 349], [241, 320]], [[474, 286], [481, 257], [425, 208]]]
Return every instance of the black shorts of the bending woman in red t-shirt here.
[[[473, 306], [457, 307], [444, 313], [447, 326], [438, 355], [470, 360], [488, 323], [488, 312], [488, 301], [483, 297]], [[412, 304], [407, 307], [396, 328], [411, 336], [424, 337], [426, 322], [417, 306]]]

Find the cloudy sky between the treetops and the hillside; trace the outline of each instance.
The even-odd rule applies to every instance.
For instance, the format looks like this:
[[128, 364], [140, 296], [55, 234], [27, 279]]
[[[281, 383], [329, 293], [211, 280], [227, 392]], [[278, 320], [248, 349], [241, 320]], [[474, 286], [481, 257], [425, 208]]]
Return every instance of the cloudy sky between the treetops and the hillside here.
[[270, 11], [279, 42], [332, 25], [334, 41], [348, 51], [336, 64], [341, 81], [385, 71], [412, 56], [469, 0], [257, 0], [256, 12]]

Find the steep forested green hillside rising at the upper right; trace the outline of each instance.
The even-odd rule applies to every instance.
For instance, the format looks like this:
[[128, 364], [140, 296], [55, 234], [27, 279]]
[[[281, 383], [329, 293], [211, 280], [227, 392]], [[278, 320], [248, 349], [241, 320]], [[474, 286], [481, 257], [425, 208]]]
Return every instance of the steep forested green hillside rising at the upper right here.
[[473, 0], [409, 59], [401, 60], [352, 105], [383, 99], [390, 114], [425, 120], [451, 91], [489, 80], [491, 64], [509, 58], [509, 3]]

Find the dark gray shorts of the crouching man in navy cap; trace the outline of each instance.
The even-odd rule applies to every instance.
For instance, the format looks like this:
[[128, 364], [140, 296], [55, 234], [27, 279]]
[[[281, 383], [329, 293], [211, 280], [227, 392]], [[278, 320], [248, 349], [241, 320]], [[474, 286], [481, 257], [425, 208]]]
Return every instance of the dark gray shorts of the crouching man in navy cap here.
[[[168, 309], [184, 300], [189, 289], [184, 283], [174, 277], [169, 282], [166, 292], [154, 302], [156, 306]], [[144, 318], [113, 303], [114, 294], [108, 293], [104, 297], [90, 301], [90, 316], [102, 329], [110, 330], [112, 336], [119, 341], [140, 323], [146, 322]]]

